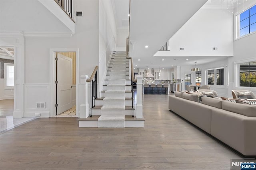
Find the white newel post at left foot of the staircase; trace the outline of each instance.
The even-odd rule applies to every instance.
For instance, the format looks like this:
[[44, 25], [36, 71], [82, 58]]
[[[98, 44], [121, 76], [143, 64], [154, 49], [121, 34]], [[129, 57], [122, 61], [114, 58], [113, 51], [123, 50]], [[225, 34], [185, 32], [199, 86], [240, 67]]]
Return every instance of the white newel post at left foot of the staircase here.
[[83, 79], [82, 84], [85, 84], [85, 104], [80, 105], [80, 118], [87, 118], [89, 116], [89, 104], [88, 104], [88, 82], [86, 80], [89, 78], [88, 75], [81, 75]]

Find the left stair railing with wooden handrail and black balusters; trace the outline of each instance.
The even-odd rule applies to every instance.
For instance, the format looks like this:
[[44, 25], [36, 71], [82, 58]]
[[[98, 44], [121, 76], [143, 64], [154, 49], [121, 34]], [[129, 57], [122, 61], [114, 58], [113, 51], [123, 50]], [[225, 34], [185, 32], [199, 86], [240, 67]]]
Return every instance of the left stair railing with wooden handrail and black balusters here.
[[90, 107], [91, 107], [91, 115], [90, 117], [92, 117], [92, 108], [95, 107], [95, 99], [98, 98], [98, 92], [97, 92], [97, 70], [98, 70], [98, 65], [95, 66], [94, 71], [92, 72], [92, 75], [89, 79], [86, 80], [86, 82], [90, 82], [91, 85], [91, 89], [90, 89]]

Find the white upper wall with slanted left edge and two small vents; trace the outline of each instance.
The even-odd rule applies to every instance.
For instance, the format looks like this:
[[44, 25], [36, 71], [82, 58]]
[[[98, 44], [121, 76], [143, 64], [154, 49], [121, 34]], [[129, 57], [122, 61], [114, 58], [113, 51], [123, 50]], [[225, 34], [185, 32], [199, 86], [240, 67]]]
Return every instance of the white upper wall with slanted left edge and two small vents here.
[[154, 56], [233, 56], [232, 20], [227, 10], [200, 9], [170, 38], [170, 51]]

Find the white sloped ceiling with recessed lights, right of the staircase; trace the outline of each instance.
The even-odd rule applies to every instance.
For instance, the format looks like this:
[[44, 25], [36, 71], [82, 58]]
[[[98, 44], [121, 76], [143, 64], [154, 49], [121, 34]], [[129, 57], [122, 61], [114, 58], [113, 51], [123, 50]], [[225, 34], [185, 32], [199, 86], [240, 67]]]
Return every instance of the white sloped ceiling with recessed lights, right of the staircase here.
[[[153, 57], [207, 0], [131, 0], [130, 56], [136, 68], [184, 65], [175, 57]], [[148, 48], [145, 48], [148, 45]], [[200, 59], [201, 57], [198, 57]], [[140, 59], [140, 61], [138, 61]], [[162, 61], [164, 59], [164, 61]], [[174, 61], [173, 59], [178, 59]], [[180, 62], [182, 61], [182, 63]], [[186, 61], [186, 60], [185, 60]]]

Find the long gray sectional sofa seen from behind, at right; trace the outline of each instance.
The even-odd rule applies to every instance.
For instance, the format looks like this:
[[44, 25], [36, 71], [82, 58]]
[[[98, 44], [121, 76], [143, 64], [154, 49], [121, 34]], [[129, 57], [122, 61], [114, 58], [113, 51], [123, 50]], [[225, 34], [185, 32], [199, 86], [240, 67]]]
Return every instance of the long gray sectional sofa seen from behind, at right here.
[[256, 157], [256, 106], [175, 92], [169, 109], [244, 157]]

